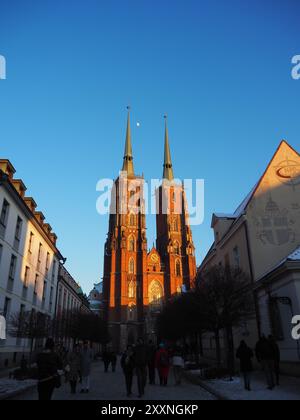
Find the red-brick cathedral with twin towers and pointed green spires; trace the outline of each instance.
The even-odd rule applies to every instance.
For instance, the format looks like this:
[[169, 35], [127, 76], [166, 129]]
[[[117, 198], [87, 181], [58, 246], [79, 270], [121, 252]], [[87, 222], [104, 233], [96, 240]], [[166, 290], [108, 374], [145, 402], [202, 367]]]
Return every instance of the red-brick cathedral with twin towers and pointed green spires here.
[[156, 318], [196, 276], [195, 247], [182, 184], [174, 180], [166, 120], [163, 180], [156, 196], [156, 247], [148, 251], [144, 178], [134, 172], [128, 111], [123, 168], [112, 190], [104, 250], [103, 301], [115, 350], [155, 339]]

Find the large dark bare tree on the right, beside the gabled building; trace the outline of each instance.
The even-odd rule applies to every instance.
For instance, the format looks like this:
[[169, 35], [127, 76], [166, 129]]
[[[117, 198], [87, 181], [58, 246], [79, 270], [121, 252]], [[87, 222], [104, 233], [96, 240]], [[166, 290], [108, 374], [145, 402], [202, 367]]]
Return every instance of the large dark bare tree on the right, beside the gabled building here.
[[233, 328], [254, 317], [254, 299], [249, 277], [230, 267], [212, 267], [198, 274], [195, 289], [169, 302], [158, 318], [161, 337], [177, 340], [212, 332], [216, 358], [221, 364], [221, 331], [226, 332], [230, 371], [234, 369]]

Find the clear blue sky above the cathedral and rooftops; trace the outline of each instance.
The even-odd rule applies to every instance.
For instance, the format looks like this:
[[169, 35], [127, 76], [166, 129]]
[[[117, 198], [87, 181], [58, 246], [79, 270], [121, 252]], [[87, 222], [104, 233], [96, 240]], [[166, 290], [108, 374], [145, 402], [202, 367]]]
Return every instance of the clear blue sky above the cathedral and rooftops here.
[[[0, 156], [86, 292], [107, 233], [96, 183], [121, 167], [126, 105], [138, 173], [161, 176], [167, 112], [175, 175], [205, 179], [199, 263], [212, 212], [237, 207], [282, 138], [299, 150], [299, 18], [298, 0], [0, 1]], [[147, 223], [150, 246], [154, 216]]]

